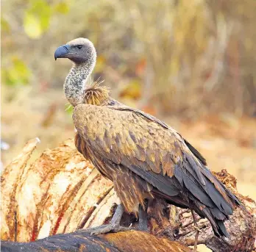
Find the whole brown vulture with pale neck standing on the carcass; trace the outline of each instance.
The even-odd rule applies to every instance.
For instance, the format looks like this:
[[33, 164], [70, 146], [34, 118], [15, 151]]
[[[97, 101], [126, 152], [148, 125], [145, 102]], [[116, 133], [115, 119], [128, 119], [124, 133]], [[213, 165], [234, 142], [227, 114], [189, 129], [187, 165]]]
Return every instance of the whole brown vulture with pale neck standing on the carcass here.
[[[238, 198], [207, 168], [205, 158], [163, 121], [111, 98], [109, 89], [90, 82], [96, 49], [86, 38], [60, 46], [54, 58], [74, 65], [64, 82], [65, 97], [74, 107], [77, 150], [113, 181], [118, 204], [113, 219], [93, 234], [122, 231], [124, 211], [134, 213], [147, 230], [147, 206], [161, 198], [206, 217], [217, 237], [229, 237], [224, 221]], [[195, 223], [196, 226], [196, 223]]]

